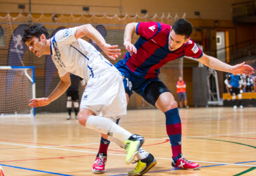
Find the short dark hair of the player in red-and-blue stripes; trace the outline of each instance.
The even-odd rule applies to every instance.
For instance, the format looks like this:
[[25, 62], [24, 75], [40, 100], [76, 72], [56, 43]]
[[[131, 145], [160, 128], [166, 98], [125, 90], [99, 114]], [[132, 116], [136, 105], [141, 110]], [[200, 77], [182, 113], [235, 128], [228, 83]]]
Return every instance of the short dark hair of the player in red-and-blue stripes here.
[[192, 34], [193, 26], [185, 19], [178, 19], [173, 24], [171, 30], [174, 30], [177, 35], [185, 35], [185, 39], [187, 39]]

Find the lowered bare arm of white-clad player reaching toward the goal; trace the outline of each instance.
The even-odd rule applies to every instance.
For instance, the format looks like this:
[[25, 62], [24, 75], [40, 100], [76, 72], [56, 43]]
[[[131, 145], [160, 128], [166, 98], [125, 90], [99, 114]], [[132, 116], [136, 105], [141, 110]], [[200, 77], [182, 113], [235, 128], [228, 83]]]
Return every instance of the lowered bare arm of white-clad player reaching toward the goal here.
[[39, 107], [46, 106], [50, 104], [52, 101], [61, 97], [61, 95], [67, 90], [67, 88], [71, 85], [69, 72], [67, 72], [64, 76], [61, 77], [61, 81], [56, 86], [55, 90], [47, 97], [47, 98], [35, 98], [29, 100], [31, 102], [28, 104], [31, 107]]

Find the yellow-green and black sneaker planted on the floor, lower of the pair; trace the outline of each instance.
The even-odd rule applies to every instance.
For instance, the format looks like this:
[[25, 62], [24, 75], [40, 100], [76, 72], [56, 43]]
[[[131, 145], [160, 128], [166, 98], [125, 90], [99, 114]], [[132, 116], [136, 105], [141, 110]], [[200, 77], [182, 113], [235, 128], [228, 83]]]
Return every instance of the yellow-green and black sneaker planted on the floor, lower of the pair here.
[[149, 156], [142, 160], [137, 160], [133, 162], [132, 164], [138, 163], [137, 166], [133, 171], [130, 171], [128, 173], [129, 176], [140, 176], [147, 171], [149, 171], [152, 167], [156, 166], [156, 159], [153, 157], [153, 155], [149, 154]]

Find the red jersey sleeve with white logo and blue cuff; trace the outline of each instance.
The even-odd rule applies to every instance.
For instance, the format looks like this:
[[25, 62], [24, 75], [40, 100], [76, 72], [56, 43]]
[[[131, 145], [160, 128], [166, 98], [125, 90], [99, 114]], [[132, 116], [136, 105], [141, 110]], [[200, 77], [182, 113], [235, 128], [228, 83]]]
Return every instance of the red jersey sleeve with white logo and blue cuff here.
[[159, 22], [139, 22], [136, 27], [136, 34], [149, 40], [157, 35], [160, 30], [161, 24]]

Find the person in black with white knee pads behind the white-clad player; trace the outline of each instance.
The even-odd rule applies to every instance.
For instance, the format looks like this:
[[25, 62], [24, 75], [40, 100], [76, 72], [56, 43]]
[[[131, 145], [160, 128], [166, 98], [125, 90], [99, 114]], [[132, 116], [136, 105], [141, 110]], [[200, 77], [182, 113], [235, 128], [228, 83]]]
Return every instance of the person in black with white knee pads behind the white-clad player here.
[[78, 119], [77, 114], [79, 112], [79, 94], [78, 94], [78, 88], [79, 88], [79, 82], [81, 82], [81, 85], [83, 86], [83, 90], [85, 90], [85, 80], [83, 78], [80, 78], [77, 75], [74, 75], [70, 73], [70, 80], [71, 85], [69, 88], [67, 88], [67, 120], [71, 119], [71, 111], [72, 111], [72, 102], [74, 104], [74, 112], [75, 112], [75, 118]]

